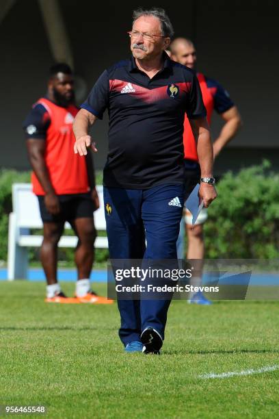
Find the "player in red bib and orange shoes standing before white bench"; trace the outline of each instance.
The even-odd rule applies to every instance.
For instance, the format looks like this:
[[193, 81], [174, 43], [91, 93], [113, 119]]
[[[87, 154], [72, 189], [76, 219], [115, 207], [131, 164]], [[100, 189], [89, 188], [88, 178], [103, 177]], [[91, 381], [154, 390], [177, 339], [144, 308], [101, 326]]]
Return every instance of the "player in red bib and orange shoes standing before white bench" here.
[[[44, 238], [40, 260], [47, 278], [48, 303], [111, 303], [90, 289], [94, 261], [93, 212], [99, 206], [90, 153], [72, 153], [75, 106], [74, 78], [67, 64], [51, 67], [46, 96], [29, 112], [24, 130], [33, 168], [31, 182], [38, 196]], [[77, 286], [75, 298], [67, 298], [57, 282], [57, 244], [68, 221], [78, 237], [75, 249]]]

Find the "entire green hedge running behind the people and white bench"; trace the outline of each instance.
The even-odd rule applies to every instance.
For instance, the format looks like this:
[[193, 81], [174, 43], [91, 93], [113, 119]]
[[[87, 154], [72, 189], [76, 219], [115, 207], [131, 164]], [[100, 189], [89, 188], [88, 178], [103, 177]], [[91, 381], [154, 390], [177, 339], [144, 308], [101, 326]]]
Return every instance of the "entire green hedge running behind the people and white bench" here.
[[[102, 181], [101, 173], [96, 183]], [[0, 172], [0, 259], [7, 260], [8, 214], [12, 211], [12, 183], [29, 182], [29, 173]], [[218, 198], [209, 207], [204, 225], [206, 257], [228, 259], [274, 259], [279, 249], [279, 175], [264, 161], [234, 174], [226, 173], [217, 184]], [[38, 250], [31, 249], [31, 262]], [[107, 259], [105, 249], [96, 249], [96, 262]], [[59, 249], [59, 259], [73, 264], [73, 250]]]

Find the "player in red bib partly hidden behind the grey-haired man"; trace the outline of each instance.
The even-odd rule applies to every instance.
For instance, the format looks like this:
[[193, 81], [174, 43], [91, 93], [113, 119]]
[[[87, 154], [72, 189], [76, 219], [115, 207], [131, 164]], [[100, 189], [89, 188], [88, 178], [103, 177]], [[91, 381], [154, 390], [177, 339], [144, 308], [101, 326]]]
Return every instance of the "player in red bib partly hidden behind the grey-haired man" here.
[[[172, 60], [183, 64], [193, 70], [196, 69], [196, 48], [187, 38], [176, 38], [170, 44], [170, 58]], [[215, 80], [197, 73], [200, 89], [202, 91], [202, 99], [207, 108], [207, 120], [211, 122], [211, 115], [213, 110], [217, 112], [224, 120], [224, 125], [220, 131], [219, 136], [213, 142], [213, 156], [219, 155], [220, 151], [228, 144], [230, 140], [237, 134], [241, 127], [241, 116], [237, 110], [236, 105], [230, 99], [226, 90]], [[196, 151], [196, 142], [191, 132], [191, 127], [188, 118], [185, 116], [184, 122], [184, 164], [185, 164], [185, 188], [186, 193], [191, 193], [191, 190], [196, 186], [200, 179], [200, 166], [198, 163], [198, 154]], [[181, 233], [178, 236], [178, 257], [183, 258], [183, 241], [184, 228], [186, 224], [188, 249], [188, 259], [200, 259], [204, 257], [204, 238], [203, 238], [203, 223], [207, 220], [207, 209], [203, 208], [198, 216], [196, 225], [191, 225], [191, 214], [186, 212], [185, 223], [181, 223]], [[182, 251], [181, 251], [182, 249]], [[197, 279], [200, 281], [201, 279]], [[196, 283], [198, 285], [198, 283]], [[209, 305], [211, 302], [207, 300], [201, 292], [191, 296], [189, 303], [196, 303], [202, 305]]]

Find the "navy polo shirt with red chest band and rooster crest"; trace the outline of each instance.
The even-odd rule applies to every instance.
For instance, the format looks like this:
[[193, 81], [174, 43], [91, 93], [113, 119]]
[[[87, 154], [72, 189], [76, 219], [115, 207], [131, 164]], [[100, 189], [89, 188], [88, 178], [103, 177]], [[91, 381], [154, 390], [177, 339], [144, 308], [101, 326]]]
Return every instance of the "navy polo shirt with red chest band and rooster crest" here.
[[207, 115], [194, 71], [163, 54], [152, 79], [135, 59], [118, 62], [96, 81], [81, 105], [98, 118], [109, 113], [109, 147], [104, 185], [146, 189], [181, 184], [183, 122]]

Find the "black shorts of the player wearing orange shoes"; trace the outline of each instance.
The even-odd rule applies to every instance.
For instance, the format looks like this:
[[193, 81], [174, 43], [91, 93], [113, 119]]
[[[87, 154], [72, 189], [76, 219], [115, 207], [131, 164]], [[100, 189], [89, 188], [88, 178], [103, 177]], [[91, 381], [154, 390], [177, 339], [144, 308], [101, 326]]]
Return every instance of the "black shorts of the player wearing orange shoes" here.
[[38, 195], [40, 215], [43, 223], [62, 223], [76, 218], [93, 218], [94, 203], [88, 194], [57, 195], [61, 211], [59, 214], [50, 214], [44, 205], [44, 196]]

